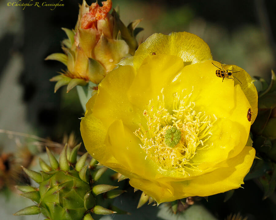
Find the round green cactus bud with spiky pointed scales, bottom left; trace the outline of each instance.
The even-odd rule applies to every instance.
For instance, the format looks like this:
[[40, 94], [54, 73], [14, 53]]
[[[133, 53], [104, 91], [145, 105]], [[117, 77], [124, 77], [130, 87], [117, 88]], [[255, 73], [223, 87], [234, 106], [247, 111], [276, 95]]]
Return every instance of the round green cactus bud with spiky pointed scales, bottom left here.
[[50, 166], [40, 159], [40, 173], [22, 167], [39, 187], [17, 186], [22, 191], [23, 197], [33, 200], [36, 205], [26, 207], [14, 215], [42, 214], [51, 220], [92, 220], [90, 214], [108, 215], [116, 213], [97, 204], [96, 196], [105, 193], [106, 198], [115, 198], [123, 190], [113, 190], [117, 186], [98, 184], [95, 185], [106, 167], [92, 169], [97, 163], [90, 161], [89, 167], [85, 165], [88, 153], [77, 161], [77, 152], [80, 145], [72, 150], [63, 148], [59, 162], [52, 152], [46, 148]]

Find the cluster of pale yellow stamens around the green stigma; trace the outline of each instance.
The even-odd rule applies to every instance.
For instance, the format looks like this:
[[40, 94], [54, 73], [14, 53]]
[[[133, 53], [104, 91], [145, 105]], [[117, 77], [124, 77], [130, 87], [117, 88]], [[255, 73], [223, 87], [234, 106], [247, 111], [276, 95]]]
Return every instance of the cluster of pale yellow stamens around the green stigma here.
[[172, 106], [167, 106], [162, 89], [157, 101], [150, 100], [143, 112], [147, 123], [140, 124], [134, 134], [140, 139], [146, 158], [162, 170], [189, 176], [192, 171], [200, 171], [198, 164], [193, 163], [194, 156], [213, 145], [206, 141], [217, 118], [196, 112], [196, 104], [190, 100], [192, 92], [184, 96], [184, 91], [175, 93]]

